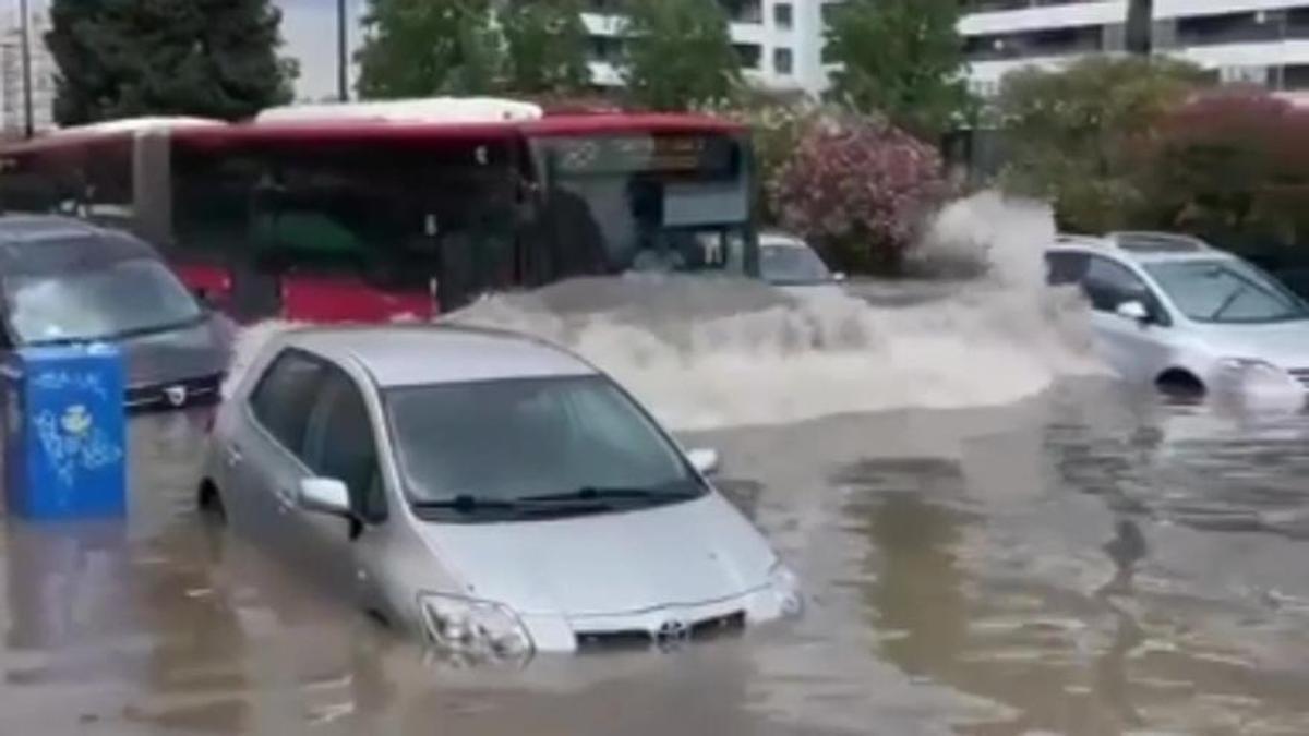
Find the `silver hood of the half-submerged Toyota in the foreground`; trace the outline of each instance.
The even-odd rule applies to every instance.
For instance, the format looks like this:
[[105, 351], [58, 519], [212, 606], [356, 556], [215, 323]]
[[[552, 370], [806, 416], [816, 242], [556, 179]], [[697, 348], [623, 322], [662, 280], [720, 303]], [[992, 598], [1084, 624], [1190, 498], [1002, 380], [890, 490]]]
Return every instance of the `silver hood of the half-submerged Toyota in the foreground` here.
[[467, 593], [524, 614], [606, 616], [723, 600], [776, 557], [717, 494], [672, 506], [512, 524], [424, 524]]

